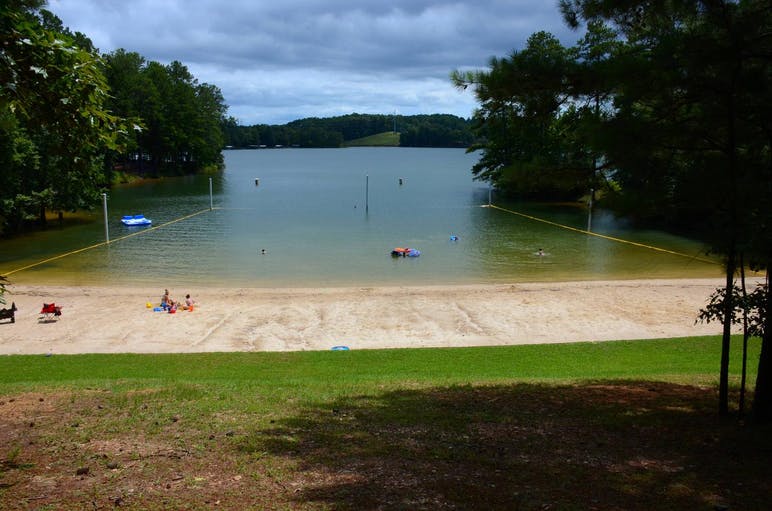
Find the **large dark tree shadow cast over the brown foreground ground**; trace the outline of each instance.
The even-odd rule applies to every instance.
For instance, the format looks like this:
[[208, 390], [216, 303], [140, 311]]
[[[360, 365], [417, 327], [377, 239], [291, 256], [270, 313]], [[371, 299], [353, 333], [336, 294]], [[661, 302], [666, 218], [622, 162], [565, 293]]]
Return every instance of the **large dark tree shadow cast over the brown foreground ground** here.
[[766, 509], [772, 429], [712, 388], [515, 384], [346, 397], [254, 431], [333, 509]]

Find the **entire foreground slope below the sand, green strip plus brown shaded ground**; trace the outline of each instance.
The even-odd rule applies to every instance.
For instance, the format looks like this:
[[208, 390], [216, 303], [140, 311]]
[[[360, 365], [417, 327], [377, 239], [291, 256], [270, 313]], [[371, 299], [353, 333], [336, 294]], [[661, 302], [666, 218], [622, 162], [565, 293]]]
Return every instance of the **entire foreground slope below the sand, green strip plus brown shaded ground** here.
[[763, 509], [772, 431], [718, 419], [719, 353], [0, 357], [0, 508]]

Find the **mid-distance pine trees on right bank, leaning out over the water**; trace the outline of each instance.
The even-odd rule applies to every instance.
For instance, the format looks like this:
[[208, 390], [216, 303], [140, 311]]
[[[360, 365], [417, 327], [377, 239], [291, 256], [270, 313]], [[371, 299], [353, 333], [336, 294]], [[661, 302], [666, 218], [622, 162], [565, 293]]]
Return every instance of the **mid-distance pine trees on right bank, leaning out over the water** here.
[[[599, 28], [598, 34], [601, 38]], [[472, 169], [476, 179], [505, 193], [554, 199], [599, 186], [599, 159], [580, 136], [590, 132], [578, 129], [589, 117], [599, 117], [606, 101], [606, 93], [589, 80], [591, 63], [589, 50], [582, 54], [537, 32], [522, 51], [491, 59], [487, 72], [452, 73], [457, 87], [475, 87], [481, 104], [473, 118], [481, 141], [470, 147], [483, 152]]]

